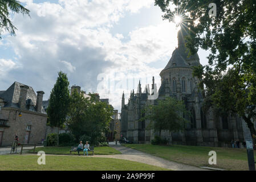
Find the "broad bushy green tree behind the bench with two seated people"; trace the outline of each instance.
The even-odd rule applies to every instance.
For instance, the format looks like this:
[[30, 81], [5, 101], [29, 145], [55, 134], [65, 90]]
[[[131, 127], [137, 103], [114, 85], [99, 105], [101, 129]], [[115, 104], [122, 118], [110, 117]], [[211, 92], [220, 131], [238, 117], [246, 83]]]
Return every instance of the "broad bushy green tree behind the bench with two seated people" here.
[[76, 140], [84, 135], [91, 137], [91, 143], [96, 144], [109, 127], [113, 107], [95, 98], [84, 98], [83, 94], [78, 92], [71, 95], [67, 126]]

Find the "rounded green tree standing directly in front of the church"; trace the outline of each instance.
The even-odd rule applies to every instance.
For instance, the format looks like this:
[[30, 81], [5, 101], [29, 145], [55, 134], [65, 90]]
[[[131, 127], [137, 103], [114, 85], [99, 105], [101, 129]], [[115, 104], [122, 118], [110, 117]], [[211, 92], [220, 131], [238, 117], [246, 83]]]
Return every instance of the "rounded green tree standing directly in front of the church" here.
[[150, 119], [149, 128], [159, 131], [161, 137], [162, 130], [182, 131], [185, 129], [185, 115], [189, 115], [183, 101], [179, 101], [173, 97], [166, 97], [160, 100], [157, 105], [148, 105], [143, 113], [145, 118]]

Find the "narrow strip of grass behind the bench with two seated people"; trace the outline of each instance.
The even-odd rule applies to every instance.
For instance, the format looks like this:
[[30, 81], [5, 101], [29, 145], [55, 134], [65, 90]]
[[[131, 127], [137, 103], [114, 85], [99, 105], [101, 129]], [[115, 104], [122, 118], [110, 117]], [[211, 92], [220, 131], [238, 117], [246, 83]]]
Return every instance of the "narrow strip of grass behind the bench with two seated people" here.
[[[71, 147], [38, 147], [35, 148], [35, 152], [44, 151], [46, 154], [56, 154], [56, 155], [69, 155]], [[33, 152], [30, 150], [29, 152]], [[80, 151], [80, 154], [83, 154], [83, 151]], [[92, 152], [88, 152], [88, 154], [92, 154]], [[121, 154], [121, 152], [115, 150], [112, 147], [94, 147], [95, 155], [113, 155], [113, 154]], [[72, 152], [72, 155], [78, 155], [78, 152]]]

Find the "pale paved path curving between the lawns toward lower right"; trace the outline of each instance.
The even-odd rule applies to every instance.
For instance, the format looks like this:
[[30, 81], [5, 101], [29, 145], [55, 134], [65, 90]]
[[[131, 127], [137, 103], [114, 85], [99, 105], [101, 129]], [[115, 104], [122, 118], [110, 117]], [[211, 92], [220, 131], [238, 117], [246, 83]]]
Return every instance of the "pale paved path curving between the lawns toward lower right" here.
[[113, 158], [113, 159], [125, 159], [132, 160], [135, 162], [150, 164], [153, 166], [159, 166], [166, 169], [172, 169], [175, 171], [208, 171], [207, 169], [202, 169], [199, 167], [189, 166], [186, 164], [172, 162], [170, 160], [165, 160], [157, 156], [149, 155], [141, 151], [134, 150], [132, 148], [124, 147], [121, 145], [111, 145], [109, 147], [115, 148], [122, 154], [117, 155], [94, 155], [94, 158]]

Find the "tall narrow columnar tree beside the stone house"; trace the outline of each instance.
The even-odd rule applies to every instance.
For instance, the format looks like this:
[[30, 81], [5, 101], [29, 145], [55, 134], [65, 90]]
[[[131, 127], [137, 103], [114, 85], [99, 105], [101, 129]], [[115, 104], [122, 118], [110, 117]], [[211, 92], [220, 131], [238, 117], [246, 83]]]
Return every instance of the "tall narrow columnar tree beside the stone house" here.
[[58, 128], [57, 145], [59, 146], [59, 128], [64, 127], [70, 104], [70, 91], [68, 89], [70, 83], [65, 73], [60, 71], [58, 75], [59, 77], [56, 80], [54, 88], [51, 90], [47, 115], [50, 126]]

